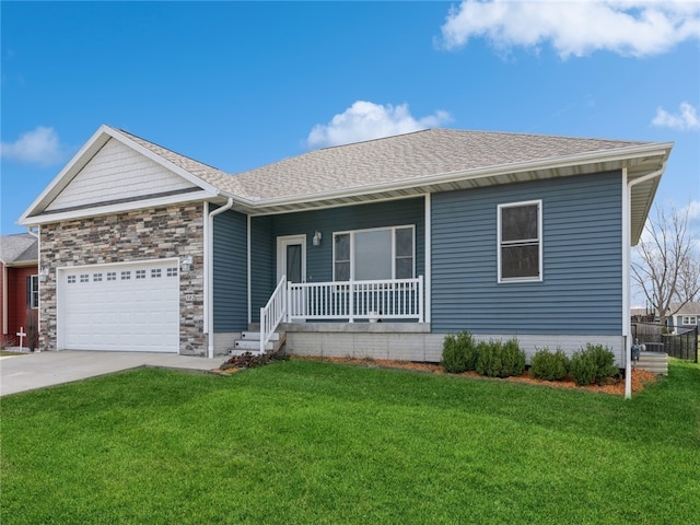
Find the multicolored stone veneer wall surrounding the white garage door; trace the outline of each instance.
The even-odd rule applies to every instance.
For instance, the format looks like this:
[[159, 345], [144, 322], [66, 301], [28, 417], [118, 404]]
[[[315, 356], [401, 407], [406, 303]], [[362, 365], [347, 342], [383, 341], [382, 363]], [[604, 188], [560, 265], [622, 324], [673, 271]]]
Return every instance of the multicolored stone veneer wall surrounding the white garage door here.
[[39, 287], [39, 348], [56, 350], [56, 268], [191, 255], [192, 269], [180, 271], [179, 353], [207, 355], [203, 221], [203, 205], [195, 202], [43, 225], [40, 267], [49, 277]]

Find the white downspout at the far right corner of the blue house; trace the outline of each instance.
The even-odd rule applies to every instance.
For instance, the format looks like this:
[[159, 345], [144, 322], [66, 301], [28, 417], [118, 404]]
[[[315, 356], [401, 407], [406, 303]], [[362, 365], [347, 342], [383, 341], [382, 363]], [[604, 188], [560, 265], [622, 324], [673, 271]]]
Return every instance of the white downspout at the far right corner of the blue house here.
[[630, 278], [630, 265], [632, 260], [632, 240], [631, 240], [631, 206], [632, 206], [632, 187], [638, 184], [645, 183], [652, 178], [661, 176], [666, 170], [664, 162], [660, 170], [649, 173], [643, 177], [635, 178], [632, 182], [627, 180], [627, 167], [622, 168], [622, 185], [625, 187], [625, 198], [622, 200], [622, 334], [625, 340], [625, 398], [632, 397], [632, 320], [630, 316], [630, 298], [632, 295], [632, 281]]

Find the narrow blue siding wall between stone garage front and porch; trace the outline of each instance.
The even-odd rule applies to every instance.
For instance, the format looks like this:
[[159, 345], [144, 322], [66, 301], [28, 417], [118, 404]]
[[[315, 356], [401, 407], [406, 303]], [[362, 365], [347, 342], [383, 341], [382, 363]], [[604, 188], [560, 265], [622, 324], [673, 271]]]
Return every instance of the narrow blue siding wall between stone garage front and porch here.
[[214, 332], [240, 331], [248, 323], [246, 222], [235, 211], [214, 217]]

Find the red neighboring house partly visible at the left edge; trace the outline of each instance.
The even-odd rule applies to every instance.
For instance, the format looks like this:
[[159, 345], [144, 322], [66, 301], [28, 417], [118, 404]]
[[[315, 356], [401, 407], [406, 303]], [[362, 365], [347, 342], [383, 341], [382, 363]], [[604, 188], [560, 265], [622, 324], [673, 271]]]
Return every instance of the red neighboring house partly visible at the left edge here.
[[35, 235], [20, 233], [0, 237], [2, 346], [19, 345], [16, 334], [22, 328], [26, 332], [27, 315], [38, 308], [37, 260], [38, 240]]

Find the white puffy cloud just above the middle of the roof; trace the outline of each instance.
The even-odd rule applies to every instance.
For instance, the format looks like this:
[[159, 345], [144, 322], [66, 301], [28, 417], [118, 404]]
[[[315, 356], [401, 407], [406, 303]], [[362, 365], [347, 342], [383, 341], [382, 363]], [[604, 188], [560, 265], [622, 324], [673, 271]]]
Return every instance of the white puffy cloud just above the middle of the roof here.
[[427, 117], [413, 118], [408, 104], [393, 106], [357, 101], [328, 124], [317, 124], [306, 142], [312, 148], [348, 144], [394, 135], [409, 133], [451, 121], [448, 113], [438, 110]]

